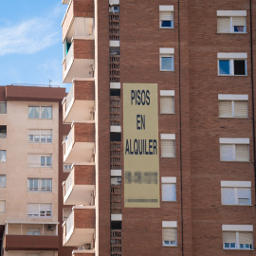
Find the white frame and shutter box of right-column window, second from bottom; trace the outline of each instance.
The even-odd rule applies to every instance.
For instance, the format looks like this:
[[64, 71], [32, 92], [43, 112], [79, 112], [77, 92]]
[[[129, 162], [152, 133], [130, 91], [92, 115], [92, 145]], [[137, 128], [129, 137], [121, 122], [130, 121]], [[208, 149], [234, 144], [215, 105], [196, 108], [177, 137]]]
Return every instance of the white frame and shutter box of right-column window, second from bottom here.
[[[235, 204], [224, 204], [224, 190], [225, 189], [233, 189], [234, 190], [234, 202]], [[239, 203], [238, 198], [238, 190], [239, 189], [247, 189], [250, 192], [248, 197], [249, 203], [248, 204], [241, 204]], [[221, 204], [224, 206], [236, 205], [236, 206], [250, 206], [251, 205], [251, 181], [221, 181]]]

